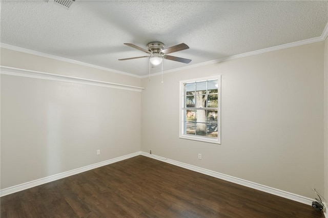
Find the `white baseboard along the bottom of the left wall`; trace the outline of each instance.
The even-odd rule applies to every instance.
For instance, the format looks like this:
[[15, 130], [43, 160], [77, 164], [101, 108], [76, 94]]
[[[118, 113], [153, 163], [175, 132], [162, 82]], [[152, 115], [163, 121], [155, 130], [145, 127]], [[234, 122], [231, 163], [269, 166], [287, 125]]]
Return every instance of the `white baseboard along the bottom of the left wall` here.
[[0, 190], [0, 197], [140, 155], [140, 151]]

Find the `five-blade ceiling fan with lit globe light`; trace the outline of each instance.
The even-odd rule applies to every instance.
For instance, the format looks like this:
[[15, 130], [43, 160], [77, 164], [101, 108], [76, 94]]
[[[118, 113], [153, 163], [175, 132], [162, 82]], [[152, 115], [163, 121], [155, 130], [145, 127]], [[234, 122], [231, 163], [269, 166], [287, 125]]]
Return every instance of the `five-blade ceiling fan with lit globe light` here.
[[191, 59], [168, 55], [173, 52], [178, 52], [181, 50], [189, 49], [189, 46], [187, 46], [185, 43], [181, 43], [179, 45], [164, 49], [164, 44], [162, 42], [154, 41], [154, 42], [148, 43], [148, 45], [147, 45], [148, 50], [142, 49], [131, 43], [124, 43], [124, 45], [130, 46], [132, 48], [138, 49], [143, 52], [146, 52], [150, 55], [149, 56], [123, 58], [123, 59], [118, 59], [118, 60], [131, 60], [131, 59], [149, 57], [149, 60], [153, 65], [160, 64], [163, 59], [174, 60], [174, 61], [178, 61], [178, 62], [182, 62], [182, 63], [190, 63], [190, 61], [191, 61]]

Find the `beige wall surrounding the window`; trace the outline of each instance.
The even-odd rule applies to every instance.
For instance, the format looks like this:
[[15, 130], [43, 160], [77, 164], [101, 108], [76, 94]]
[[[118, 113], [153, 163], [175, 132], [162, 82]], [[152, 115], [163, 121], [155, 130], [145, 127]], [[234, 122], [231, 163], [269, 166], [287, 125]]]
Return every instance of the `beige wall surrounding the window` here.
[[[313, 198], [324, 189], [323, 45], [142, 79], [142, 151]], [[179, 81], [213, 75], [222, 75], [221, 145], [179, 139]]]

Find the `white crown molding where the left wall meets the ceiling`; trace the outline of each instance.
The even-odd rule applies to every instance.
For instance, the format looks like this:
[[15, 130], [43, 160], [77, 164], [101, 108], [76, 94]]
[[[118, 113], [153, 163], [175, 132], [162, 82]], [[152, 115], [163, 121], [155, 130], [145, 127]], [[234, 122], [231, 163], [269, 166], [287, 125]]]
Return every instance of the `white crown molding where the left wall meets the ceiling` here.
[[38, 56], [47, 57], [47, 58], [51, 58], [51, 59], [55, 59], [55, 60], [65, 61], [65, 62], [69, 62], [69, 63], [75, 63], [75, 64], [85, 66], [85, 67], [89, 67], [89, 68], [95, 68], [95, 69], [98, 69], [98, 70], [103, 70], [103, 71], [108, 71], [108, 72], [112, 72], [112, 73], [118, 73], [118, 74], [123, 74], [123, 75], [127, 75], [127, 76], [140, 78], [140, 76], [134, 75], [134, 74], [131, 74], [131, 73], [126, 73], [126, 72], [117, 71], [117, 70], [113, 70], [113, 69], [109, 69], [109, 68], [105, 68], [105, 67], [100, 67], [100, 66], [97, 66], [97, 65], [94, 65], [94, 64], [91, 64], [91, 63], [85, 63], [85, 62], [72, 60], [72, 59], [65, 58], [65, 57], [59, 57], [59, 56], [56, 56], [56, 55], [37, 52], [37, 51], [30, 50], [30, 49], [20, 48], [20, 47], [17, 47], [17, 46], [11, 46], [11, 45], [8, 45], [8, 44], [5, 44], [5, 43], [0, 43], [0, 48], [10, 49], [10, 50], [14, 50], [14, 51], [18, 51], [18, 52], [24, 52], [24, 53], [33, 54], [33, 55], [38, 55]]

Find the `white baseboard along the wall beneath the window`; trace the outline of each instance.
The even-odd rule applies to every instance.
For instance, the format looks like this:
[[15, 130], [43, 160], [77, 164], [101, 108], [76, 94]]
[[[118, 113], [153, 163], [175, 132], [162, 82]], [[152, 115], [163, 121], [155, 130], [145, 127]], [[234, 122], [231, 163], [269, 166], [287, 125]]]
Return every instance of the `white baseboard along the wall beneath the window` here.
[[141, 151], [141, 155], [146, 156], [146, 157], [150, 157], [150, 158], [153, 158], [153, 159], [156, 159], [156, 160], [159, 160], [159, 161], [163, 161], [163, 162], [166, 162], [166, 163], [170, 163], [170, 164], [173, 164], [173, 165], [176, 165], [176, 166], [179, 166], [179, 167], [190, 169], [190, 170], [193, 170], [193, 171], [196, 171], [196, 172], [200, 172], [202, 174], [205, 174], [205, 175], [208, 175], [208, 176], [211, 176], [211, 177], [226, 180], [226, 181], [229, 181], [229, 182], [232, 182], [232, 183], [243, 185], [243, 186], [253, 188], [253, 189], [256, 189], [256, 190], [259, 190], [259, 191], [264, 191], [264, 192], [267, 192], [267, 193], [270, 193], [270, 194], [274, 194], [274, 195], [277, 195], [279, 197], [289, 199], [289, 200], [293, 200], [293, 201], [296, 201], [296, 202], [300, 202], [300, 203], [303, 203], [303, 204], [312, 205], [312, 202], [314, 201], [314, 199], [306, 198], [306, 197], [303, 197], [303, 196], [298, 195], [298, 194], [294, 194], [294, 193], [291, 193], [291, 192], [279, 190], [279, 189], [276, 189], [276, 188], [272, 188], [272, 187], [269, 187], [269, 186], [265, 186], [265, 185], [250, 182], [250, 181], [247, 181], [247, 180], [239, 179], [239, 178], [236, 178], [236, 177], [224, 175], [223, 173], [215, 172], [215, 171], [208, 170], [208, 169], [203, 169], [203, 168], [193, 166], [193, 165], [190, 165], [190, 164], [185, 164], [185, 163], [170, 160], [170, 159], [167, 159], [167, 158], [162, 158], [162, 157], [159, 157], [159, 156], [156, 156], [156, 155], [151, 155], [151, 154], [148, 154], [147, 152]]

